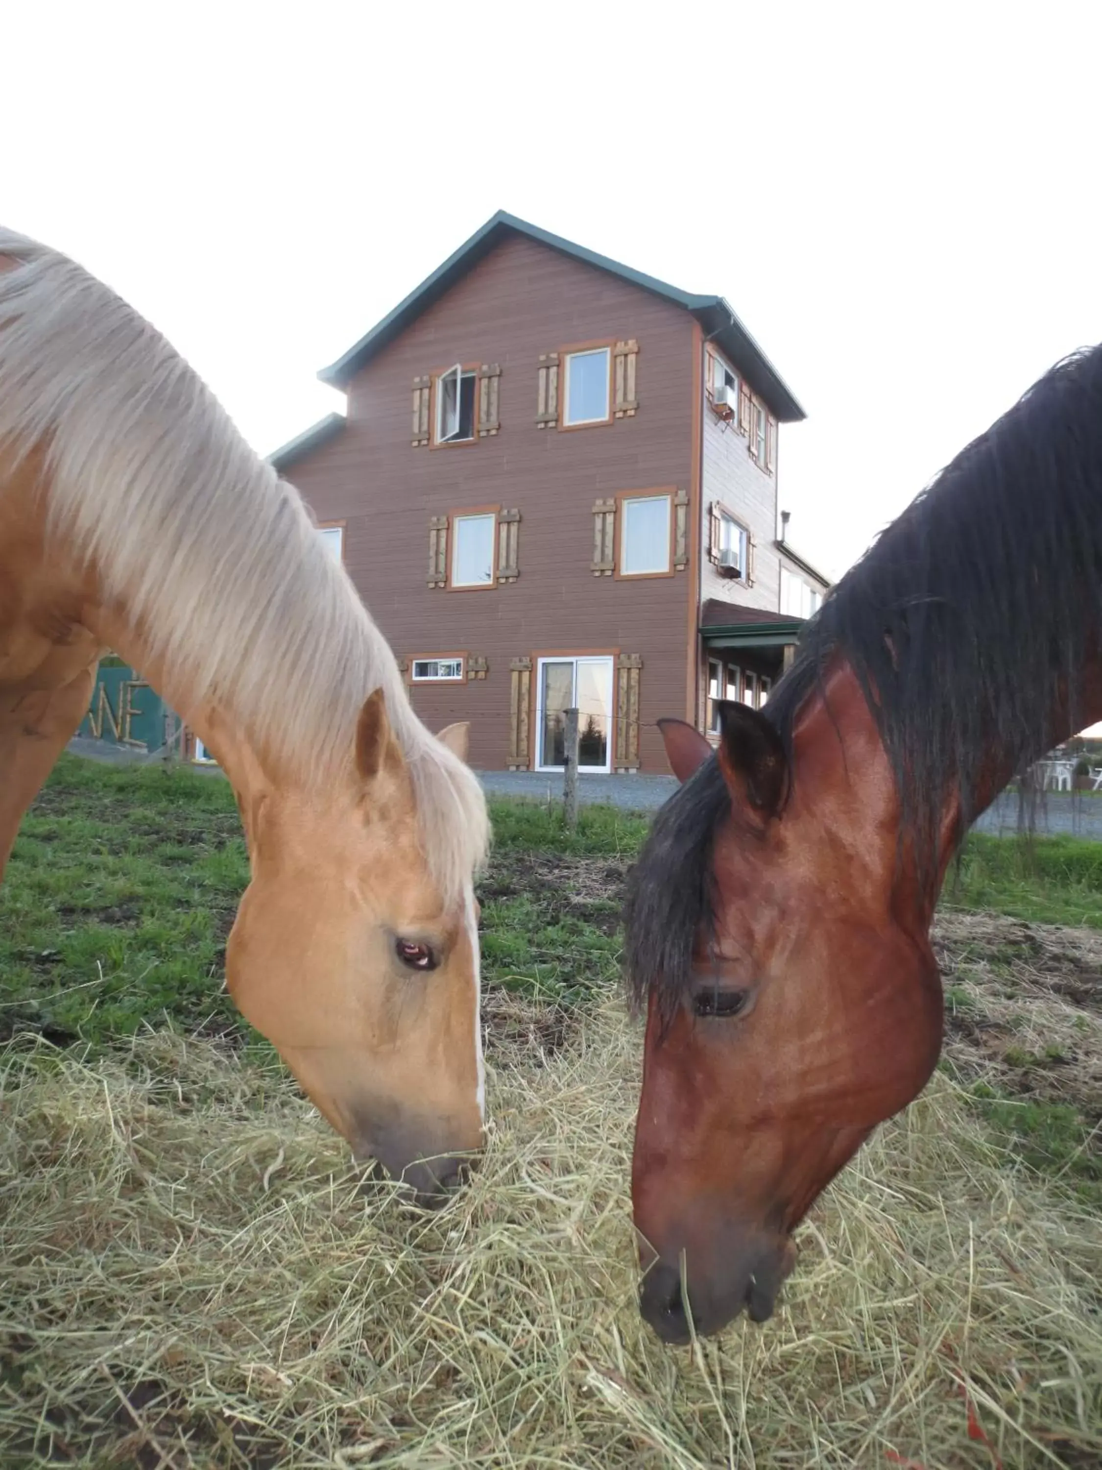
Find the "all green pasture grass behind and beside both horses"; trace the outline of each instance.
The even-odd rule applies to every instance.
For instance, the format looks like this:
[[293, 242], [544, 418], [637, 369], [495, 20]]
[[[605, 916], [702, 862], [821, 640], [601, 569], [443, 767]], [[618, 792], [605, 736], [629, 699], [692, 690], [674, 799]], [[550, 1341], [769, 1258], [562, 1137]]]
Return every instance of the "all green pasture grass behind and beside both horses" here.
[[[486, 985], [567, 1007], [607, 994], [620, 972], [623, 878], [648, 819], [591, 806], [569, 832], [555, 804], [494, 800], [491, 814], [494, 856], [479, 886]], [[225, 941], [247, 879], [234, 795], [220, 778], [63, 757], [0, 886], [0, 1041], [26, 1029], [59, 1045], [109, 1048], [141, 1028], [173, 1026], [263, 1050], [223, 986]], [[1102, 926], [1102, 844], [973, 836], [945, 903]], [[965, 944], [962, 957], [970, 953]], [[977, 960], [1001, 973], [1004, 957], [989, 942]], [[949, 983], [946, 1008], [974, 1011], [976, 992]], [[1102, 1202], [1093, 1114], [1018, 1086], [1059, 1058], [1011, 1048], [1004, 1060], [1006, 1085], [984, 1083], [973, 1097], [992, 1135], [1008, 1155]]]

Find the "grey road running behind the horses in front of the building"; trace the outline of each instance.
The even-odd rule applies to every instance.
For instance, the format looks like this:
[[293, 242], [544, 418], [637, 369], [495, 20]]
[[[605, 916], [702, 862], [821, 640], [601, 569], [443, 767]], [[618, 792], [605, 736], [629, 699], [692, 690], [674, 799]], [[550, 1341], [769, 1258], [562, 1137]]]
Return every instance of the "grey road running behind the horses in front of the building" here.
[[[113, 764], [159, 759], [148, 757], [144, 751], [123, 750], [119, 745], [79, 736], [69, 742], [69, 750], [76, 756], [88, 756], [93, 760], [106, 760]], [[216, 767], [212, 766], [198, 766], [197, 769], [216, 772]], [[561, 801], [563, 798], [563, 778], [557, 775], [544, 776], [535, 770], [480, 770], [478, 775], [485, 789], [494, 795], [530, 797], [535, 801]], [[586, 804], [607, 801], [624, 811], [657, 811], [676, 786], [677, 782], [673, 776], [580, 776], [577, 782], [580, 801]], [[1102, 797], [1051, 791], [1037, 806], [1036, 826], [1039, 832], [1070, 832], [1074, 836], [1102, 842]], [[1017, 832], [1017, 795], [999, 797], [995, 806], [983, 813], [976, 829], [999, 835]]]

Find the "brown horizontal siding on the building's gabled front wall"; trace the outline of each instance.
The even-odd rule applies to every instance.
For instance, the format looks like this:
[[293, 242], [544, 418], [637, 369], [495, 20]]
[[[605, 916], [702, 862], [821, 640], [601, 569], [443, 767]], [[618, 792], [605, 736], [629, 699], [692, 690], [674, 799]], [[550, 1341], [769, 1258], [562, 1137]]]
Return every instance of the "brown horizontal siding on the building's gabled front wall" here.
[[[541, 353], [597, 338], [638, 341], [638, 413], [592, 429], [538, 429]], [[655, 485], [691, 490], [692, 354], [686, 312], [510, 238], [353, 379], [344, 432], [289, 467], [319, 519], [345, 522], [345, 564], [398, 659], [466, 648], [488, 660], [485, 679], [411, 688], [431, 728], [470, 720], [473, 766], [507, 763], [514, 659], [614, 648], [642, 657], [641, 769], [669, 769], [655, 720], [685, 707], [695, 579], [689, 570], [594, 576], [594, 501]], [[414, 378], [454, 362], [500, 365], [500, 432], [414, 448]], [[520, 512], [517, 581], [478, 594], [428, 588], [431, 517], [483, 504]]]

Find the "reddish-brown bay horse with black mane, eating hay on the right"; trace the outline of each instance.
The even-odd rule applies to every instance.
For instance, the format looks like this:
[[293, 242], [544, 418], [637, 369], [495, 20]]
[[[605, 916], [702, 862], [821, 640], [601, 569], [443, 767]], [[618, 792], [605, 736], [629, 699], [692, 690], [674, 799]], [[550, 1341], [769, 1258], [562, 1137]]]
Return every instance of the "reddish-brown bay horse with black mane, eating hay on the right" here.
[[[648, 1000], [632, 1194], [670, 1342], [770, 1316], [792, 1230], [924, 1086], [946, 867], [1015, 770], [1102, 717], [1102, 348], [1054, 368], [823, 603], [683, 785], [627, 908]], [[686, 1313], [688, 1302], [688, 1313]]]

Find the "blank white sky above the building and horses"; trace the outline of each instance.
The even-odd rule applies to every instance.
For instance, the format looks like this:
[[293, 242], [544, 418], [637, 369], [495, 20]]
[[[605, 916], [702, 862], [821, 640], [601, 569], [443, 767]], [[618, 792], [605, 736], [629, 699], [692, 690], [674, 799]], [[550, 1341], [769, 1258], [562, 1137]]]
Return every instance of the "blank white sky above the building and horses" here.
[[1102, 340], [1098, 3], [9, 3], [0, 38], [0, 218], [262, 453], [498, 207], [727, 297], [808, 412], [780, 500], [832, 575]]

